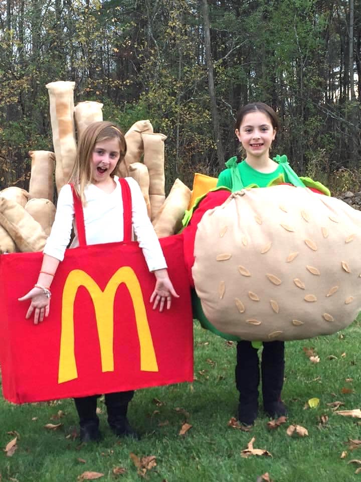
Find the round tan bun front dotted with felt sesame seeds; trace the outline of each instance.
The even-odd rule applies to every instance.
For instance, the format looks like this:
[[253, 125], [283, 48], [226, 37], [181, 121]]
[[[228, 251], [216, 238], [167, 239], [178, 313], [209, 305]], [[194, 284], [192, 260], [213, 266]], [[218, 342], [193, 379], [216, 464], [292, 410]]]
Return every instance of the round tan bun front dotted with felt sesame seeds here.
[[247, 340], [330, 334], [361, 309], [361, 212], [292, 186], [233, 193], [199, 223], [192, 269], [209, 321]]

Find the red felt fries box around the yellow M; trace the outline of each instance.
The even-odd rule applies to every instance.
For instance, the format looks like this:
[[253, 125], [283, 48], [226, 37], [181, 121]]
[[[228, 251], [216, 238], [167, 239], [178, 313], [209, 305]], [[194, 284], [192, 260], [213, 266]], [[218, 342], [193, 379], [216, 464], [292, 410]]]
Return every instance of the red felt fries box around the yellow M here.
[[[0, 365], [7, 400], [37, 402], [193, 380], [193, 320], [183, 237], [165, 237], [160, 243], [169, 276], [180, 295], [172, 300], [170, 310], [152, 310], [149, 298], [154, 275], [149, 273], [137, 243], [110, 243], [66, 251], [52, 284], [49, 317], [39, 325], [25, 319], [29, 302], [19, 302], [18, 298], [37, 281], [42, 253], [0, 256]], [[93, 300], [81, 286], [74, 301], [78, 376], [58, 383], [62, 293], [67, 276], [72, 270], [83, 270], [104, 290], [123, 266], [131, 267], [140, 282], [158, 372], [140, 370], [134, 308], [125, 283], [119, 285], [114, 297], [114, 371], [102, 372]]]

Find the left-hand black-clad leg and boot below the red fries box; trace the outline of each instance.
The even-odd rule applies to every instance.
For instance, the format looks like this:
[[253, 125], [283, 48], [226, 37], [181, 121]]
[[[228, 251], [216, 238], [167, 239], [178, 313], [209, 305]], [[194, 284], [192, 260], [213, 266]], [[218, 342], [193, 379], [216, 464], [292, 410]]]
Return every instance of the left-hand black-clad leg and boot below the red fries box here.
[[75, 398], [74, 402], [79, 415], [81, 442], [99, 442], [101, 434], [99, 432], [99, 419], [96, 414], [97, 395]]

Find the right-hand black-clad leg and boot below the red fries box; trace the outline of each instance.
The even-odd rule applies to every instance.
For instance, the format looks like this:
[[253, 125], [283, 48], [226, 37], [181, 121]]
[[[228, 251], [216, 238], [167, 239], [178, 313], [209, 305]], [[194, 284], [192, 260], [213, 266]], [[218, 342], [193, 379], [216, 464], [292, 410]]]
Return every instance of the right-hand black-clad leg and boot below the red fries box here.
[[107, 393], [105, 405], [108, 412], [108, 423], [117, 437], [133, 437], [139, 435], [132, 429], [126, 417], [128, 403], [133, 398], [134, 391]]

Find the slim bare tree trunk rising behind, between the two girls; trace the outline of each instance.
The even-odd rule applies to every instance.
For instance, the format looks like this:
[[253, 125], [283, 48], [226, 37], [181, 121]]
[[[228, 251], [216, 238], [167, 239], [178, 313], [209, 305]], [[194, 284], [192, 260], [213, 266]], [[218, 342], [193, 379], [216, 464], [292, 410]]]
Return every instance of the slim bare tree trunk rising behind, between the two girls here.
[[209, 21], [209, 9], [207, 0], [201, 0], [202, 12], [203, 12], [203, 28], [205, 36], [205, 50], [206, 50], [206, 62], [208, 70], [208, 90], [212, 105], [212, 121], [213, 121], [213, 132], [216, 138], [217, 146], [217, 159], [218, 164], [221, 169], [224, 169], [224, 150], [221, 140], [221, 129], [219, 122], [219, 114], [217, 107], [216, 91], [214, 86], [214, 73], [213, 73], [213, 62], [211, 54], [211, 34], [210, 34], [210, 21]]

